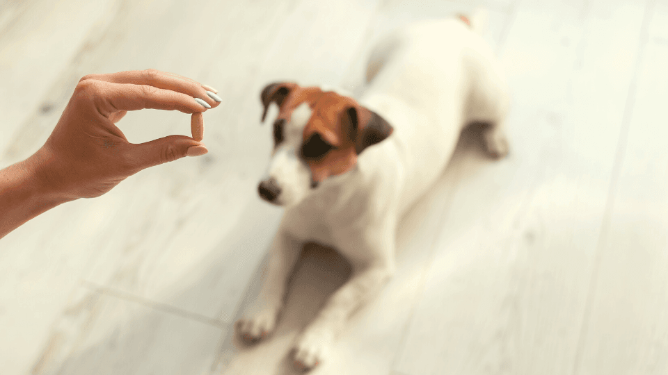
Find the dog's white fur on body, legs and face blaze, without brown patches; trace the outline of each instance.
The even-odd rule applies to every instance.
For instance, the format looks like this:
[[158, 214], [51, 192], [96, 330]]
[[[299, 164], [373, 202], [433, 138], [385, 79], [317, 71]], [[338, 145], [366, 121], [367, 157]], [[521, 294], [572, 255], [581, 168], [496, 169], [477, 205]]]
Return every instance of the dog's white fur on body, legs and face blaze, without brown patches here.
[[[479, 19], [472, 24], [479, 26]], [[502, 129], [508, 94], [501, 68], [490, 47], [463, 22], [420, 22], [390, 35], [372, 51], [367, 81], [359, 103], [387, 120], [394, 133], [363, 151], [356, 167], [302, 194], [303, 171], [292, 172], [296, 162], [282, 153], [294, 152], [296, 135], [272, 162], [270, 173], [283, 188], [299, 193], [285, 199], [289, 206], [271, 248], [267, 281], [239, 331], [248, 338], [271, 333], [304, 242], [335, 247], [353, 266], [350, 280], [296, 341], [294, 360], [305, 368], [326, 358], [353, 310], [392, 276], [399, 219], [441, 175], [462, 128], [491, 124], [484, 134], [488, 153], [507, 153]], [[296, 115], [298, 133], [308, 113]]]

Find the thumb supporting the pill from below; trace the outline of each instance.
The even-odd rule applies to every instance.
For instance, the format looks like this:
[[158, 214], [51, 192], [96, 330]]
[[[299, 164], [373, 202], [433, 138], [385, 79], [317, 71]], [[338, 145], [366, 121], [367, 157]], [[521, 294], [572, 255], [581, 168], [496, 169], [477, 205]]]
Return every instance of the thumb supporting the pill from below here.
[[126, 153], [136, 169], [146, 169], [173, 162], [185, 156], [200, 156], [209, 152], [202, 142], [185, 135], [168, 135], [164, 138], [133, 144]]

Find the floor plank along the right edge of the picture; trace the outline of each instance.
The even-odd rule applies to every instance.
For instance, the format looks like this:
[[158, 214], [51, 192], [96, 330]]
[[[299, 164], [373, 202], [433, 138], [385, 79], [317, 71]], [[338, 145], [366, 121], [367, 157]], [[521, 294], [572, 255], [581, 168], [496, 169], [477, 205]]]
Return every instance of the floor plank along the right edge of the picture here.
[[[648, 34], [628, 106], [628, 137], [591, 283], [582, 353], [574, 374], [668, 371], [668, 156], [663, 103], [668, 98], [668, 3], [648, 17]], [[662, 27], [661, 27], [662, 26]]]

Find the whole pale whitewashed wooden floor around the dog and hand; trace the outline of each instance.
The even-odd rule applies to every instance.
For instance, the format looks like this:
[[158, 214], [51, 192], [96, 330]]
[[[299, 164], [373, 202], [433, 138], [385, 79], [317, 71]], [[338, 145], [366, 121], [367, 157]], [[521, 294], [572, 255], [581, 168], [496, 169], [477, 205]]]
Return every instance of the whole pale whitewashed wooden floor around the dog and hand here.
[[[0, 0], [0, 167], [45, 142], [85, 74], [152, 67], [223, 98], [207, 156], [0, 240], [0, 374], [293, 374], [292, 340], [349, 266], [308, 247], [278, 331], [237, 342], [281, 215], [256, 193], [260, 90], [360, 92], [379, 36], [480, 4], [511, 154], [464, 133], [402, 222], [395, 278], [313, 374], [668, 374], [668, 0]], [[120, 128], [190, 131], [155, 110]]]

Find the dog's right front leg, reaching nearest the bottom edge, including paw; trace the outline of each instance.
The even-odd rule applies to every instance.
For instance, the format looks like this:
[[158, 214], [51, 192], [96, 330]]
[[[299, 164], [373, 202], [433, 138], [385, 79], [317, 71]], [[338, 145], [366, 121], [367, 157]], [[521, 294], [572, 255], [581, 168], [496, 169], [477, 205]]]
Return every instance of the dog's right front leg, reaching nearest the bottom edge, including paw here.
[[[393, 238], [394, 233], [389, 235]], [[358, 249], [342, 251], [344, 254], [348, 251], [372, 254], [373, 259], [364, 262], [352, 261], [353, 275], [349, 281], [334, 292], [317, 317], [296, 340], [295, 367], [308, 370], [321, 363], [323, 358], [328, 356], [331, 345], [343, 330], [351, 313], [373, 297], [374, 292], [392, 276], [395, 268], [394, 241], [388, 242], [390, 243], [385, 243], [383, 249], [365, 248], [363, 242], [358, 242]]]

